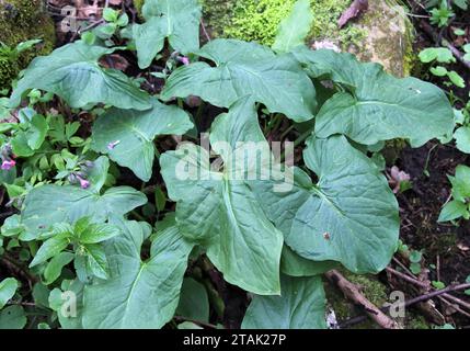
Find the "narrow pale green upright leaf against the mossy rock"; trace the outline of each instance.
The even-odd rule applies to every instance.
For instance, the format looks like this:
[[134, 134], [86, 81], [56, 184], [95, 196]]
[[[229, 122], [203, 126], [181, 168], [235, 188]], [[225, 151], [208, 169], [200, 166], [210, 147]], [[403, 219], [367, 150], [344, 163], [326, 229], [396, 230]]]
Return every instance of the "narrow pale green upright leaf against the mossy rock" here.
[[305, 44], [313, 22], [313, 13], [310, 0], [298, 0], [289, 16], [284, 19], [277, 30], [273, 50], [276, 53], [288, 53], [294, 47]]

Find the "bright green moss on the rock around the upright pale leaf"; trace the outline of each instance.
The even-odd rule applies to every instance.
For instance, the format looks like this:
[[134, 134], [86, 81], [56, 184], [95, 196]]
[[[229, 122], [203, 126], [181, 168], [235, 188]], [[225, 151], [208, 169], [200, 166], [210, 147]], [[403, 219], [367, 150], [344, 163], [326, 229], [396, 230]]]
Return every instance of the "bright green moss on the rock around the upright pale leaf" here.
[[[295, 0], [200, 0], [206, 24], [214, 36], [255, 41], [272, 45], [277, 27], [293, 9]], [[346, 26], [337, 29], [337, 19], [351, 0], [316, 0], [311, 2], [313, 25], [310, 37], [339, 38], [342, 43], [358, 43], [366, 33]]]

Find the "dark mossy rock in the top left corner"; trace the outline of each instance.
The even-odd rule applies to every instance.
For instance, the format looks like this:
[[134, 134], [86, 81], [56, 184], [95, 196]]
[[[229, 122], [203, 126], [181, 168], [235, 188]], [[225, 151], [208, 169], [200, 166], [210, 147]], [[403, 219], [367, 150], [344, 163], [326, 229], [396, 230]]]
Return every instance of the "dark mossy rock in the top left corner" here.
[[42, 0], [0, 0], [0, 42], [15, 47], [21, 42], [41, 38], [43, 42], [12, 60], [0, 53], [0, 90], [38, 55], [49, 54], [55, 45], [54, 21], [45, 13]]

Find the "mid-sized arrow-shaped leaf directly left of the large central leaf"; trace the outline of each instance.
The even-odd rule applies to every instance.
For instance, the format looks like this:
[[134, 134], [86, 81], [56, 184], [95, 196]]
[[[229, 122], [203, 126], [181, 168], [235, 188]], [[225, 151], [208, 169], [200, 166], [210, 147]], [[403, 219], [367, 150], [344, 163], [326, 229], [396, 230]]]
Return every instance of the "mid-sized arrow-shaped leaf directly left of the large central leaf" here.
[[193, 127], [188, 115], [176, 106], [167, 106], [157, 99], [147, 111], [111, 109], [93, 125], [92, 148], [137, 177], [148, 181], [154, 158], [153, 139], [158, 135], [182, 135]]

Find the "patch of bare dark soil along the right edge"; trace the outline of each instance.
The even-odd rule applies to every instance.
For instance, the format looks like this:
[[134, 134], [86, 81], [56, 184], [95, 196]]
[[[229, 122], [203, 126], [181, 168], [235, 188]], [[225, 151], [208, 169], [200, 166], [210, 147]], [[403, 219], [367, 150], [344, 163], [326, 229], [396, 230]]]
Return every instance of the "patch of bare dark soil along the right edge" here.
[[[447, 284], [463, 282], [470, 275], [469, 222], [462, 220], [458, 227], [437, 223], [442, 206], [450, 196], [447, 174], [454, 174], [458, 165], [466, 163], [468, 155], [438, 143], [406, 148], [399, 159], [400, 168], [413, 182], [413, 189], [398, 197], [401, 238], [414, 249], [423, 249], [428, 264], [436, 264], [438, 259], [440, 281]], [[433, 274], [433, 280], [437, 280], [437, 272]]]

